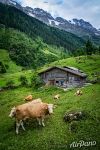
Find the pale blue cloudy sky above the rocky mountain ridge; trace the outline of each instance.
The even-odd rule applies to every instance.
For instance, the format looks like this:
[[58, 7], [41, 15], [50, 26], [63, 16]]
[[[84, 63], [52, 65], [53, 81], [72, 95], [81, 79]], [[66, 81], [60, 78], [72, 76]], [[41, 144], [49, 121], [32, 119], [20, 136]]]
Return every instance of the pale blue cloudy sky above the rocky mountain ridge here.
[[22, 6], [42, 8], [53, 17], [84, 19], [100, 28], [100, 0], [16, 0]]

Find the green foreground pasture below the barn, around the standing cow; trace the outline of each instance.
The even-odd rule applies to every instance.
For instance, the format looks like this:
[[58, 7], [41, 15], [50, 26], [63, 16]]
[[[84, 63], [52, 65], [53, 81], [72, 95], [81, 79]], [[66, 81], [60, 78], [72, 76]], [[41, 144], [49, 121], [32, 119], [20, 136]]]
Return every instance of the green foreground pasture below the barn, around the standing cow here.
[[[82, 147], [82, 150], [99, 150], [100, 145], [100, 85], [95, 84], [82, 88], [82, 96], [74, 96], [75, 89], [64, 92], [55, 87], [34, 90], [19, 88], [0, 93], [0, 150], [69, 150], [72, 142], [96, 141], [96, 146]], [[53, 100], [53, 95], [59, 93], [61, 98]], [[25, 123], [26, 131], [20, 129], [15, 134], [14, 119], [8, 117], [13, 106], [24, 103], [24, 97], [32, 94], [33, 98], [42, 98], [44, 102], [54, 103], [57, 107], [54, 114], [45, 119], [45, 127], [39, 127], [36, 120]], [[83, 110], [88, 115], [77, 123], [73, 132], [68, 129], [68, 123], [63, 121], [65, 112]], [[67, 146], [67, 147], [66, 147]], [[80, 148], [71, 148], [80, 149]]]

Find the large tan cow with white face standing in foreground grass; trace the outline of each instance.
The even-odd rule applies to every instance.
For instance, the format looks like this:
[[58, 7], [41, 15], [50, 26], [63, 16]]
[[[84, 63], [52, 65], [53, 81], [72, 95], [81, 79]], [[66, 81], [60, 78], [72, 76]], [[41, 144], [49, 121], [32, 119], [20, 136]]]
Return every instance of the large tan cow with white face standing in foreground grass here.
[[16, 119], [16, 133], [19, 133], [19, 127], [25, 130], [23, 121], [28, 118], [36, 118], [39, 125], [45, 126], [44, 118], [48, 114], [53, 113], [53, 104], [47, 104], [43, 102], [34, 103], [29, 102], [16, 107], [13, 107], [9, 117], [15, 117]]

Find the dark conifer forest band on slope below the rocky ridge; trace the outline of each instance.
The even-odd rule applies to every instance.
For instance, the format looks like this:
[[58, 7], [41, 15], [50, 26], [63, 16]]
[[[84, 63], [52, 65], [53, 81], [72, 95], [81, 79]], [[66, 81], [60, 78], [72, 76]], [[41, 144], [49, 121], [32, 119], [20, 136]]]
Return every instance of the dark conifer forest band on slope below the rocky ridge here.
[[84, 44], [84, 40], [74, 34], [47, 26], [43, 22], [26, 15], [15, 7], [1, 3], [0, 23], [6, 27], [12, 27], [25, 32], [33, 39], [39, 36], [47, 44], [64, 47], [71, 51]]

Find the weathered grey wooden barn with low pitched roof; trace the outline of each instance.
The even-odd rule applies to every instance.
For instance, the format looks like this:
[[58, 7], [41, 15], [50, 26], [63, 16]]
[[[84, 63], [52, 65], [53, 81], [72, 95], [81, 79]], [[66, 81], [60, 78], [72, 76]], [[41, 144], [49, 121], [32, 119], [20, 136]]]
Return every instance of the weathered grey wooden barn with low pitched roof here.
[[51, 67], [39, 73], [46, 85], [77, 87], [86, 82], [87, 75], [74, 67]]

